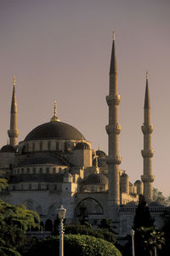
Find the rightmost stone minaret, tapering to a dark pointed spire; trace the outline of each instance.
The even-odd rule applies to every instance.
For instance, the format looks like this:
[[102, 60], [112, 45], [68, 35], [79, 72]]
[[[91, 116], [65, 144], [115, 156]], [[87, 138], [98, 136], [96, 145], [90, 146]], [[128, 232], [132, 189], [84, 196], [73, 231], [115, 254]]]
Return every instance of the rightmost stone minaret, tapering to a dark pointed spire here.
[[153, 200], [152, 195], [152, 183], [154, 176], [152, 175], [152, 157], [154, 151], [151, 148], [151, 133], [153, 131], [153, 125], [150, 122], [150, 94], [148, 87], [148, 73], [146, 73], [146, 88], [144, 98], [144, 125], [141, 126], [144, 133], [144, 150], [141, 151], [144, 158], [144, 174], [141, 179], [144, 183], [144, 198], [145, 201], [150, 202]]

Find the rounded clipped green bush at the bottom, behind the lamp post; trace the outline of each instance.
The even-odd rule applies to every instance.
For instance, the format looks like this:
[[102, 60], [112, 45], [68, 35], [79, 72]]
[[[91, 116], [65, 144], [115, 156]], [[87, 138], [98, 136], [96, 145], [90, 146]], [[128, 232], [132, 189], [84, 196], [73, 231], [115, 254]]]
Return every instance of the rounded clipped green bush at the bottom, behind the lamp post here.
[[[65, 235], [65, 255], [74, 256], [121, 256], [122, 254], [108, 241], [93, 236]], [[23, 256], [56, 256], [59, 254], [59, 236], [38, 241]]]

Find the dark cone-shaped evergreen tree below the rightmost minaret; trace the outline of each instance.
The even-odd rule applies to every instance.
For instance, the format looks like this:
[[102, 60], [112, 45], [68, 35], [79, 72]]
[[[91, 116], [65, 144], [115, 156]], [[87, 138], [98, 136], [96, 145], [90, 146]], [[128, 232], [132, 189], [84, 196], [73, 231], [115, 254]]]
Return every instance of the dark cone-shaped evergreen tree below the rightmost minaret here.
[[140, 195], [139, 205], [134, 216], [133, 230], [139, 229], [140, 227], [151, 227], [153, 224], [154, 219], [150, 216], [150, 210], [146, 201], [144, 201], [144, 195]]

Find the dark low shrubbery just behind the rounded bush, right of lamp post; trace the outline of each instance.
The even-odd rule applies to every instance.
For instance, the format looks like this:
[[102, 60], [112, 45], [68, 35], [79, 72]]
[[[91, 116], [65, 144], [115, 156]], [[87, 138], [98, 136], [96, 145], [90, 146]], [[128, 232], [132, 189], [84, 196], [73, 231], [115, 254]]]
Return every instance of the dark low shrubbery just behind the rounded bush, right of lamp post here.
[[96, 238], [101, 238], [106, 241], [110, 241], [112, 244], [116, 243], [115, 234], [111, 233], [106, 229], [95, 229], [91, 225], [81, 225], [81, 224], [70, 224], [65, 226], [65, 234], [80, 234], [94, 236]]

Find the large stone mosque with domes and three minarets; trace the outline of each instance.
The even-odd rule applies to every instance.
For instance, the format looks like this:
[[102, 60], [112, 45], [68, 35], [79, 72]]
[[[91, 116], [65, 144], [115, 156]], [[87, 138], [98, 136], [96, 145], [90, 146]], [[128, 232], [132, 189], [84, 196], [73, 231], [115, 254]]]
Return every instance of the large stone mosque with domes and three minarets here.
[[[139, 195], [144, 194], [157, 226], [161, 225], [160, 214], [165, 207], [153, 202], [150, 96], [148, 74], [144, 98], [144, 172], [141, 180], [129, 182], [129, 177], [120, 168], [118, 107], [121, 97], [117, 92], [117, 66], [115, 33], [113, 33], [110, 67], [108, 155], [94, 150], [82, 133], [63, 123], [54, 115], [45, 124], [30, 131], [23, 141], [17, 143], [17, 102], [15, 79], [10, 112], [9, 143], [0, 150], [0, 171], [8, 177], [8, 188], [1, 191], [0, 198], [10, 204], [23, 203], [37, 211], [44, 231], [54, 230], [57, 208], [66, 208], [66, 222], [77, 223], [84, 214], [92, 224], [102, 218], [113, 218], [120, 236], [129, 234], [133, 225]], [[142, 120], [141, 120], [142, 123]]]

